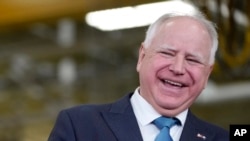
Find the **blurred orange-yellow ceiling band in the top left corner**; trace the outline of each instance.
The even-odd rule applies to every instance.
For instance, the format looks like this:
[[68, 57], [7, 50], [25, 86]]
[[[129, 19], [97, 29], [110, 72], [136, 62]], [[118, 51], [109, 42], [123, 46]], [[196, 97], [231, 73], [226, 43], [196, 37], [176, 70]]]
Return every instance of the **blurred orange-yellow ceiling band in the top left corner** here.
[[160, 0], [1, 0], [0, 31], [36, 22], [54, 23], [63, 17], [82, 20], [89, 11], [157, 1]]

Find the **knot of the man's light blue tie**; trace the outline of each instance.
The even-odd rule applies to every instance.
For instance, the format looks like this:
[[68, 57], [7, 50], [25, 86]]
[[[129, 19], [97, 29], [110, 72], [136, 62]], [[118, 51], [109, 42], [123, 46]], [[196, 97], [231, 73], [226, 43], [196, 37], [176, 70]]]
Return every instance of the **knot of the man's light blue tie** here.
[[176, 118], [159, 117], [153, 121], [157, 128], [163, 127], [171, 128], [173, 125], [178, 124], [179, 120]]

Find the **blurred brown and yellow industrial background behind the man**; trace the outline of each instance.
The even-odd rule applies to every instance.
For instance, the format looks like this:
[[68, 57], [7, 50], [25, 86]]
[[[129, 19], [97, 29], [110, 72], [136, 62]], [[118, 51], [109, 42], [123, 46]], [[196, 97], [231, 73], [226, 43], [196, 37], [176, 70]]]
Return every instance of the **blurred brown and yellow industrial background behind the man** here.
[[[134, 91], [147, 25], [103, 31], [86, 15], [152, 2], [166, 1], [1, 0], [0, 140], [47, 140], [60, 110]], [[208, 88], [192, 110], [226, 129], [250, 124], [250, 2], [189, 2], [217, 24], [220, 40]]]

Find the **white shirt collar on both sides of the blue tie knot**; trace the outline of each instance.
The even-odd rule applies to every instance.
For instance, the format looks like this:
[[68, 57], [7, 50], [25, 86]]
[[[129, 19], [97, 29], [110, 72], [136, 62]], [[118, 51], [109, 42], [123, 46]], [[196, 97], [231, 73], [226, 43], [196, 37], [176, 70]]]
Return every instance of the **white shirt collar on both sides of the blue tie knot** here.
[[[138, 122], [141, 125], [150, 124], [153, 120], [160, 117], [161, 115], [139, 94], [139, 87], [135, 90], [133, 96], [131, 97], [131, 104], [135, 113], [135, 116]], [[183, 126], [186, 117], [187, 117], [188, 109], [181, 112], [176, 116], [177, 119], [180, 120], [181, 125]]]

